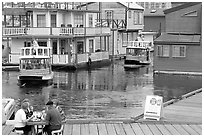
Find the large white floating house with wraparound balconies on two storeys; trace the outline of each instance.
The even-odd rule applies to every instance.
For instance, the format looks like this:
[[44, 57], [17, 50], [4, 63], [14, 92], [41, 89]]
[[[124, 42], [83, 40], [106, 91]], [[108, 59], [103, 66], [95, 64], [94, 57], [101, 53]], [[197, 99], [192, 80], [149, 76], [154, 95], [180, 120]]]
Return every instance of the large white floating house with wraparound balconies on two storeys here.
[[81, 8], [81, 2], [6, 2], [2, 5], [2, 34], [10, 47], [10, 64], [18, 64], [20, 49], [52, 48], [56, 69], [80, 68], [109, 62], [110, 28], [96, 25], [99, 8]]

